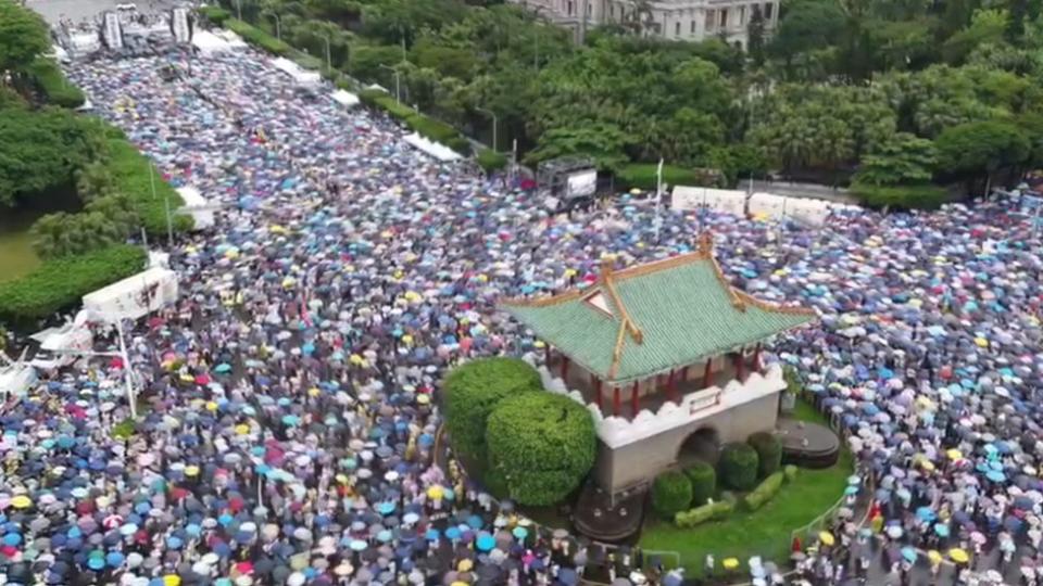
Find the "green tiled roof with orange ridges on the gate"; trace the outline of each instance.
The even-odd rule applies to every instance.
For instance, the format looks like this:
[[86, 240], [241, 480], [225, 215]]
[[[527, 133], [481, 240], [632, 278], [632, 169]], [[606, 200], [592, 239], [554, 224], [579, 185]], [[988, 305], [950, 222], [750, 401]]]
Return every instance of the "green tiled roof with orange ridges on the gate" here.
[[603, 381], [624, 383], [694, 365], [816, 319], [733, 289], [713, 256], [699, 251], [613, 271], [591, 286], [502, 309]]

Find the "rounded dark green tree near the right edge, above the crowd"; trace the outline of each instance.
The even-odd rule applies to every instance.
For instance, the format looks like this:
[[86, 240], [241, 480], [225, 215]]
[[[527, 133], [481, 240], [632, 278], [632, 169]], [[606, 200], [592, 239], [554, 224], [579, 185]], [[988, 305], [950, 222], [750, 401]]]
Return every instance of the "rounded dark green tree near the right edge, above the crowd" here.
[[1031, 149], [1025, 131], [997, 120], [946, 128], [934, 140], [934, 146], [943, 170], [967, 178], [983, 175], [987, 191], [996, 171], [1025, 163]]

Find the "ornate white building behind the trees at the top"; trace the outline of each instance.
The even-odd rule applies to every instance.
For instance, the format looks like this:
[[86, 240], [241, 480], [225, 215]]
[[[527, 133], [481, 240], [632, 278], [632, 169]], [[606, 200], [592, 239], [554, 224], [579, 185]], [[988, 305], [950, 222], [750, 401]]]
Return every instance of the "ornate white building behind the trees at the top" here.
[[724, 38], [746, 47], [746, 28], [755, 10], [764, 16], [765, 31], [779, 22], [779, 0], [512, 0], [546, 18], [573, 28], [587, 8], [587, 26], [645, 23], [644, 34], [670, 40], [701, 41]]

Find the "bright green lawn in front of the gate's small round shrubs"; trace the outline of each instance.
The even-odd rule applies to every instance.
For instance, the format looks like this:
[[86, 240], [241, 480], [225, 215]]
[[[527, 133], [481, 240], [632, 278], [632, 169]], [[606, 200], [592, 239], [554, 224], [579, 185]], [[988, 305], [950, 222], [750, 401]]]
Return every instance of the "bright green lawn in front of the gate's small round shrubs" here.
[[[822, 417], [799, 403], [794, 417], [822, 422]], [[755, 512], [737, 511], [727, 521], [694, 528], [651, 519], [641, 535], [645, 550], [677, 551], [689, 577], [702, 574], [703, 560], [712, 552], [718, 568], [725, 558], [739, 558], [742, 568], [751, 556], [784, 562], [789, 558], [790, 533], [813, 521], [843, 495], [853, 470], [852, 456], [841, 453], [837, 466], [827, 470], [801, 470], [771, 501]]]

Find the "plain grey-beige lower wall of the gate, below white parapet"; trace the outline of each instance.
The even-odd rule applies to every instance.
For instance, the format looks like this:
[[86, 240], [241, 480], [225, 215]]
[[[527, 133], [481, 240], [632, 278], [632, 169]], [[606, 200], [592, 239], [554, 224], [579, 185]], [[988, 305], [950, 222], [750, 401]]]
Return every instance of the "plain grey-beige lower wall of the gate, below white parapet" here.
[[673, 466], [684, 441], [704, 428], [716, 430], [722, 444], [745, 442], [753, 433], [775, 429], [778, 405], [776, 392], [616, 449], [599, 442], [594, 464], [598, 483], [610, 492], [619, 492], [651, 481]]

